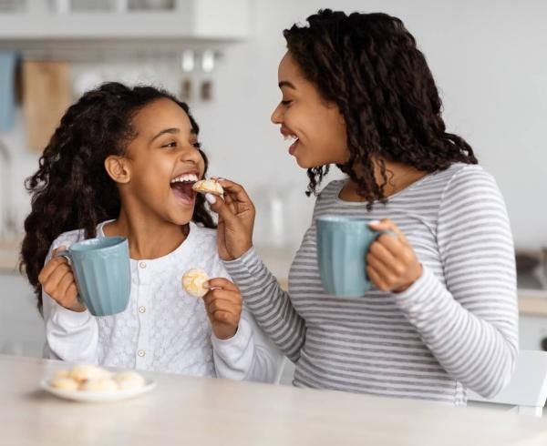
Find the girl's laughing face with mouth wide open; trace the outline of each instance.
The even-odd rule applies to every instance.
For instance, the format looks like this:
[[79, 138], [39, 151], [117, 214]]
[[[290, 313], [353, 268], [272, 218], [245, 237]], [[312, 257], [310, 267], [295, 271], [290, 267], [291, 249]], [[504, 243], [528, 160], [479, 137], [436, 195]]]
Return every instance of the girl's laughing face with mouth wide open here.
[[191, 220], [204, 160], [185, 111], [170, 99], [158, 99], [133, 117], [136, 133], [122, 164], [128, 177], [119, 181], [122, 206], [176, 225]]

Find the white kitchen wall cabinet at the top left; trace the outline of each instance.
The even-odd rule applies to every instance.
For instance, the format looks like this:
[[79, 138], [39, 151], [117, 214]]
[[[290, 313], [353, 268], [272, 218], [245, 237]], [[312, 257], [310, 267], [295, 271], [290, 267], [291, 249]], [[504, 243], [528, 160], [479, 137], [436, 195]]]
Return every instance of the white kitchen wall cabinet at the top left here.
[[172, 10], [62, 13], [56, 10], [55, 2], [26, 0], [26, 9], [0, 14], [0, 41], [240, 40], [250, 33], [250, 3], [177, 0]]

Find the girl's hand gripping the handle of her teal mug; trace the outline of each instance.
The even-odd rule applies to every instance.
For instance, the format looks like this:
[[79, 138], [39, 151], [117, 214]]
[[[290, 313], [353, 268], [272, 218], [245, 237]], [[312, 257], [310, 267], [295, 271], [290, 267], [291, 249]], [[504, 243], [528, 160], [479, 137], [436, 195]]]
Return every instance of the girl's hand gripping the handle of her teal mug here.
[[38, 281], [42, 290], [62, 307], [72, 311], [85, 311], [86, 306], [77, 299], [76, 281], [67, 259], [55, 257], [57, 251], [62, 249], [64, 247], [54, 249], [51, 260], [40, 271]]

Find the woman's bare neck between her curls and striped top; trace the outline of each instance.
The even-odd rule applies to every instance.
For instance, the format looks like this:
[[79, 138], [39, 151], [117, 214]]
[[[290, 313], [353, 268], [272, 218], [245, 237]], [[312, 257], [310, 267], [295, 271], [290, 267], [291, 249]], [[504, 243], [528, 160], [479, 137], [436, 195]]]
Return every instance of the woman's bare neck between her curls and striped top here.
[[[428, 172], [418, 170], [416, 167], [408, 166], [406, 164], [395, 163], [391, 161], [385, 161], [387, 184], [384, 186], [384, 195], [389, 198], [397, 192], [408, 188], [411, 184], [418, 181], [418, 179], [428, 175]], [[377, 184], [383, 184], [384, 178], [382, 177], [381, 168], [378, 164], [375, 165], [375, 177]], [[345, 201], [365, 201], [361, 195], [357, 192], [358, 186], [354, 181], [349, 181], [344, 188], [340, 191], [340, 198]]]

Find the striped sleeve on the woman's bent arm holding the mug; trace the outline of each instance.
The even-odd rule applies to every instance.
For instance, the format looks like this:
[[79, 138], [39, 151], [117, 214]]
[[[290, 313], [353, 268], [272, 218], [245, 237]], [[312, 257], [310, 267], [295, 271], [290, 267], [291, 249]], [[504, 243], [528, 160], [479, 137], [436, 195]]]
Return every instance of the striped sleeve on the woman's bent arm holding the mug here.
[[437, 237], [445, 283], [424, 266], [397, 303], [450, 376], [491, 398], [514, 370], [518, 305], [509, 218], [480, 167], [464, 167], [450, 180]]

